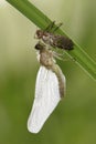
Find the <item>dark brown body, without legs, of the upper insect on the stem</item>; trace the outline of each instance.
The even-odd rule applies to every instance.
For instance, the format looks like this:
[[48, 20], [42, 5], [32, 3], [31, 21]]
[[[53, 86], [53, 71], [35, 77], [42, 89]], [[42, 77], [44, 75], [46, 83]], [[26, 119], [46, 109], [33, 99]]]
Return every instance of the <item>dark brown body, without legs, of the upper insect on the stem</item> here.
[[53, 47], [60, 48], [64, 50], [73, 50], [73, 41], [66, 37], [53, 34], [51, 32], [38, 30], [36, 31], [38, 39], [42, 39], [44, 43]]

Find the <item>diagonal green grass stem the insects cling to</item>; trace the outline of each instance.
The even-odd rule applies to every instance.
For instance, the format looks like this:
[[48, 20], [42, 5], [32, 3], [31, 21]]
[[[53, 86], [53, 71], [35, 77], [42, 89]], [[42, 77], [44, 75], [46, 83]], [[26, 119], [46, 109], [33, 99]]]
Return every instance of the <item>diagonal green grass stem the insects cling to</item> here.
[[[28, 0], [7, 0], [10, 4], [17, 8], [23, 16], [30, 19], [34, 24], [41, 29], [45, 29], [51, 20], [35, 8]], [[66, 35], [61, 29], [56, 33]], [[84, 69], [88, 75], [96, 80], [96, 62], [90, 59], [90, 56], [74, 42], [74, 50], [67, 52], [67, 54], [76, 60], [76, 63]]]

